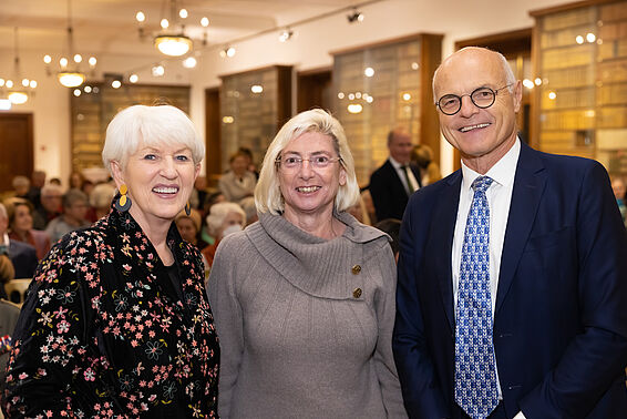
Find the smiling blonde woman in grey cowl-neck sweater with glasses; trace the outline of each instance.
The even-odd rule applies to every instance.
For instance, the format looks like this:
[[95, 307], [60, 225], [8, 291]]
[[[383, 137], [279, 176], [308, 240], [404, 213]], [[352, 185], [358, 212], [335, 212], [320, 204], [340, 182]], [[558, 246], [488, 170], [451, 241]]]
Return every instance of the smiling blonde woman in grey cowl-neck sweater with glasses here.
[[392, 358], [388, 236], [345, 211], [359, 196], [340, 123], [288, 121], [255, 190], [259, 222], [225, 237], [208, 294], [222, 418], [404, 418]]

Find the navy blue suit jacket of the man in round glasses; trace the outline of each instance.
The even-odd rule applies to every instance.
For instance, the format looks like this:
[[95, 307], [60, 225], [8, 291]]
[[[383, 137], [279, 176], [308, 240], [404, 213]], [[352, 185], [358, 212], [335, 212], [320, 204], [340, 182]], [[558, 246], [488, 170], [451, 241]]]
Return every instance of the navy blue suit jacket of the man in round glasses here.
[[[393, 349], [411, 418], [460, 418], [451, 247], [462, 174], [401, 228]], [[494, 310], [508, 418], [627, 418], [627, 235], [604, 167], [522, 144]]]

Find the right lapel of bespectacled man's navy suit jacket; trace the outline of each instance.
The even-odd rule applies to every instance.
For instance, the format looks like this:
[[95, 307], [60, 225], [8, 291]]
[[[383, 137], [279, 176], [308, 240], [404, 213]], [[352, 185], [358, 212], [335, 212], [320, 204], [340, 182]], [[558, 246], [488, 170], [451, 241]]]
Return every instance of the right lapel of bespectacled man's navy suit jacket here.
[[521, 142], [521, 155], [514, 177], [512, 203], [501, 256], [495, 315], [510, 290], [525, 244], [527, 243], [544, 186], [546, 173], [539, 153]]

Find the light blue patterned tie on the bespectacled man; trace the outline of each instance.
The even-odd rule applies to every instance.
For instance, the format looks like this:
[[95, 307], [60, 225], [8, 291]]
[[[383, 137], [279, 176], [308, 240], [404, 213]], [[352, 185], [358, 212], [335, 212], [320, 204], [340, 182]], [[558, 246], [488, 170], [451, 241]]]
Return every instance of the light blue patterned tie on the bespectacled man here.
[[490, 207], [487, 176], [472, 183], [474, 196], [466, 222], [455, 328], [455, 401], [473, 419], [486, 418], [498, 405], [492, 343], [490, 296]]

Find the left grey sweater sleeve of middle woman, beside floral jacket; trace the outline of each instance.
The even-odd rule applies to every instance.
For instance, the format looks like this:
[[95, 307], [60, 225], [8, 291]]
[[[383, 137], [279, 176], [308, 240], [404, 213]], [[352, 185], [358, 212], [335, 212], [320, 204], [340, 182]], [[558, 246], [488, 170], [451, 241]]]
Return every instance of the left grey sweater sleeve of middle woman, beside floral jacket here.
[[207, 284], [220, 346], [218, 412], [225, 419], [230, 417], [230, 400], [244, 351], [244, 323], [235, 284], [236, 260], [243, 254], [229, 238], [220, 242]]

